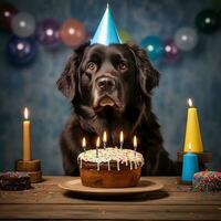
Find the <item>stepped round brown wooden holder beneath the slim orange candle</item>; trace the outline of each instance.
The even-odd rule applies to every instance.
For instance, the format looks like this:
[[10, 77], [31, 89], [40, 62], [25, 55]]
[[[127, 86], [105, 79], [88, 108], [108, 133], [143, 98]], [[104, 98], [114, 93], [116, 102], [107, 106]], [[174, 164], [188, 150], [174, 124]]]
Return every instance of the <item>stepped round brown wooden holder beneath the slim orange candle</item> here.
[[39, 159], [25, 161], [18, 159], [15, 160], [14, 169], [15, 171], [28, 172], [32, 183], [42, 181], [41, 161]]

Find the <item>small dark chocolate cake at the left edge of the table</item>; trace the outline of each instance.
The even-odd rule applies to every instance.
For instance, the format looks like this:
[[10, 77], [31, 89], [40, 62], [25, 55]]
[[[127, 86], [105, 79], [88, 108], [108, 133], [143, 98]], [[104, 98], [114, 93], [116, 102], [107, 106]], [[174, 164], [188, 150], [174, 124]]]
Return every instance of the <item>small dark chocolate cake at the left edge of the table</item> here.
[[0, 173], [1, 190], [25, 190], [31, 187], [30, 176], [27, 172], [2, 172]]

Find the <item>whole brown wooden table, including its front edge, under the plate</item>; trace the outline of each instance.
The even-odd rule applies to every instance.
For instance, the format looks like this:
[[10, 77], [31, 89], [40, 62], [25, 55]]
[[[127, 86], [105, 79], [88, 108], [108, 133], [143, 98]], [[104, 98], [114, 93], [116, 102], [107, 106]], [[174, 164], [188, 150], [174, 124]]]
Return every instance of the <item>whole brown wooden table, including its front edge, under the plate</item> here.
[[73, 177], [45, 177], [24, 191], [0, 191], [0, 219], [221, 220], [221, 192], [192, 192], [176, 177], [150, 177], [161, 191], [137, 198], [86, 198], [57, 187]]

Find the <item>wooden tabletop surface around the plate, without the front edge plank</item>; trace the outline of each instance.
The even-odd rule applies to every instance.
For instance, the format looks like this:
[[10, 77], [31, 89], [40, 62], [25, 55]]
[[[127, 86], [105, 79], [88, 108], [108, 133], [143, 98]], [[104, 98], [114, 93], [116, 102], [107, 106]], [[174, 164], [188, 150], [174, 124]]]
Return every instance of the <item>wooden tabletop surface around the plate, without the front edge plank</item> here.
[[[221, 192], [200, 193], [192, 192], [187, 187], [179, 187], [171, 191], [169, 187], [176, 186], [176, 178], [151, 177], [151, 180], [166, 182], [164, 191], [156, 191], [139, 198], [106, 198], [81, 197], [63, 191], [57, 183], [63, 180], [76, 179], [73, 177], [48, 177], [46, 181], [34, 185], [34, 188], [25, 191], [0, 191], [0, 204], [10, 203], [71, 203], [71, 204], [221, 204]], [[169, 183], [169, 185], [168, 185]]]

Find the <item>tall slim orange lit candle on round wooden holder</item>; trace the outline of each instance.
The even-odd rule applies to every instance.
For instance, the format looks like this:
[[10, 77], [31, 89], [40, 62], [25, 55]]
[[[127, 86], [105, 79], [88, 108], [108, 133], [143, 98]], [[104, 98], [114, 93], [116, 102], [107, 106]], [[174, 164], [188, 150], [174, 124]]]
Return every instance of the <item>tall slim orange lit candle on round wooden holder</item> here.
[[24, 120], [23, 120], [23, 160], [31, 160], [31, 146], [30, 146], [30, 120], [29, 109], [24, 108]]

